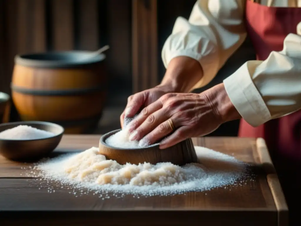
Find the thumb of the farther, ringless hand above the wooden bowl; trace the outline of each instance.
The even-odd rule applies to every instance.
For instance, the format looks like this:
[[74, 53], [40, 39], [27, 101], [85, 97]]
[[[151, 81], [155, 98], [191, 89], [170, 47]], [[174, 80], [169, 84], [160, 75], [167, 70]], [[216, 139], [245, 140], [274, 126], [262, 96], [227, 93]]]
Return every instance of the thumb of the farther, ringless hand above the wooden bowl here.
[[124, 111], [125, 117], [127, 118], [134, 117], [141, 109], [146, 99], [147, 99], [147, 92], [145, 91], [136, 93], [135, 95], [132, 96], [131, 99], [128, 99], [128, 104], [126, 105], [126, 109]]

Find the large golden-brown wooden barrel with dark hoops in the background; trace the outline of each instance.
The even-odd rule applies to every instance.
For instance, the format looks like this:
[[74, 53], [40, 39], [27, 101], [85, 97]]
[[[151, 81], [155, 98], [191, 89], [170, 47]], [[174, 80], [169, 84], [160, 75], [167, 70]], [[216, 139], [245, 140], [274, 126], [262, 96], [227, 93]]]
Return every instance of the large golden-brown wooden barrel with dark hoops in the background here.
[[104, 106], [105, 55], [70, 51], [20, 55], [15, 58], [12, 100], [23, 121], [60, 124], [65, 133], [96, 127]]

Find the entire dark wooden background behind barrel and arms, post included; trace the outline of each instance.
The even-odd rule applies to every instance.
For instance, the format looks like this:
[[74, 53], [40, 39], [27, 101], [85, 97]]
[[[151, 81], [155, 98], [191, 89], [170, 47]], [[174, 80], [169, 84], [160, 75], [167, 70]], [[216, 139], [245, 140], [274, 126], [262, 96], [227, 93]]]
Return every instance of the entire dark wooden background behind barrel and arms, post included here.
[[[106, 52], [109, 88], [95, 133], [120, 128], [129, 95], [160, 83], [165, 68], [161, 49], [178, 16], [188, 18], [196, 0], [0, 0], [0, 91], [10, 94], [16, 54], [97, 50]], [[248, 39], [216, 78], [222, 82], [245, 61], [255, 59]], [[14, 115], [12, 112], [12, 120]], [[238, 121], [211, 136], [236, 136]]]

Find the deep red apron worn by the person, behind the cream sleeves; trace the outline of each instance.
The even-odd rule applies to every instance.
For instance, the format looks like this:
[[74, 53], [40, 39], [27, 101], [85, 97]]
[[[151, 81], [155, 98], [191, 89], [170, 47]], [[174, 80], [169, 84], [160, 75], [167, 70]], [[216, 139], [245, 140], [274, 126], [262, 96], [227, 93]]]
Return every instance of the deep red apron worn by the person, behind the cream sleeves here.
[[[246, 28], [257, 59], [265, 60], [272, 51], [281, 51], [284, 38], [289, 33], [296, 34], [300, 21], [301, 8], [267, 7], [247, 1]], [[301, 111], [256, 128], [241, 120], [239, 136], [265, 139], [291, 212], [301, 191], [301, 178], [298, 178], [301, 169]]]

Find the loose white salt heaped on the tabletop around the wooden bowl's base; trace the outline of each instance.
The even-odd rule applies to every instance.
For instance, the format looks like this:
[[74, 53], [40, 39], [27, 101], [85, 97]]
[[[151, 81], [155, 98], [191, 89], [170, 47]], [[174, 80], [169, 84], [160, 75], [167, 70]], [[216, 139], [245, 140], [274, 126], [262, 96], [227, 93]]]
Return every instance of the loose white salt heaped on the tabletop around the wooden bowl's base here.
[[[246, 174], [246, 164], [233, 156], [196, 146], [199, 163], [177, 166], [171, 163], [120, 165], [107, 160], [92, 147], [77, 154], [61, 155], [34, 168], [44, 180], [95, 191], [153, 196], [211, 190], [237, 183]], [[60, 186], [61, 186], [60, 185]], [[73, 190], [74, 192], [74, 190]], [[101, 196], [100, 196], [101, 197]]]

